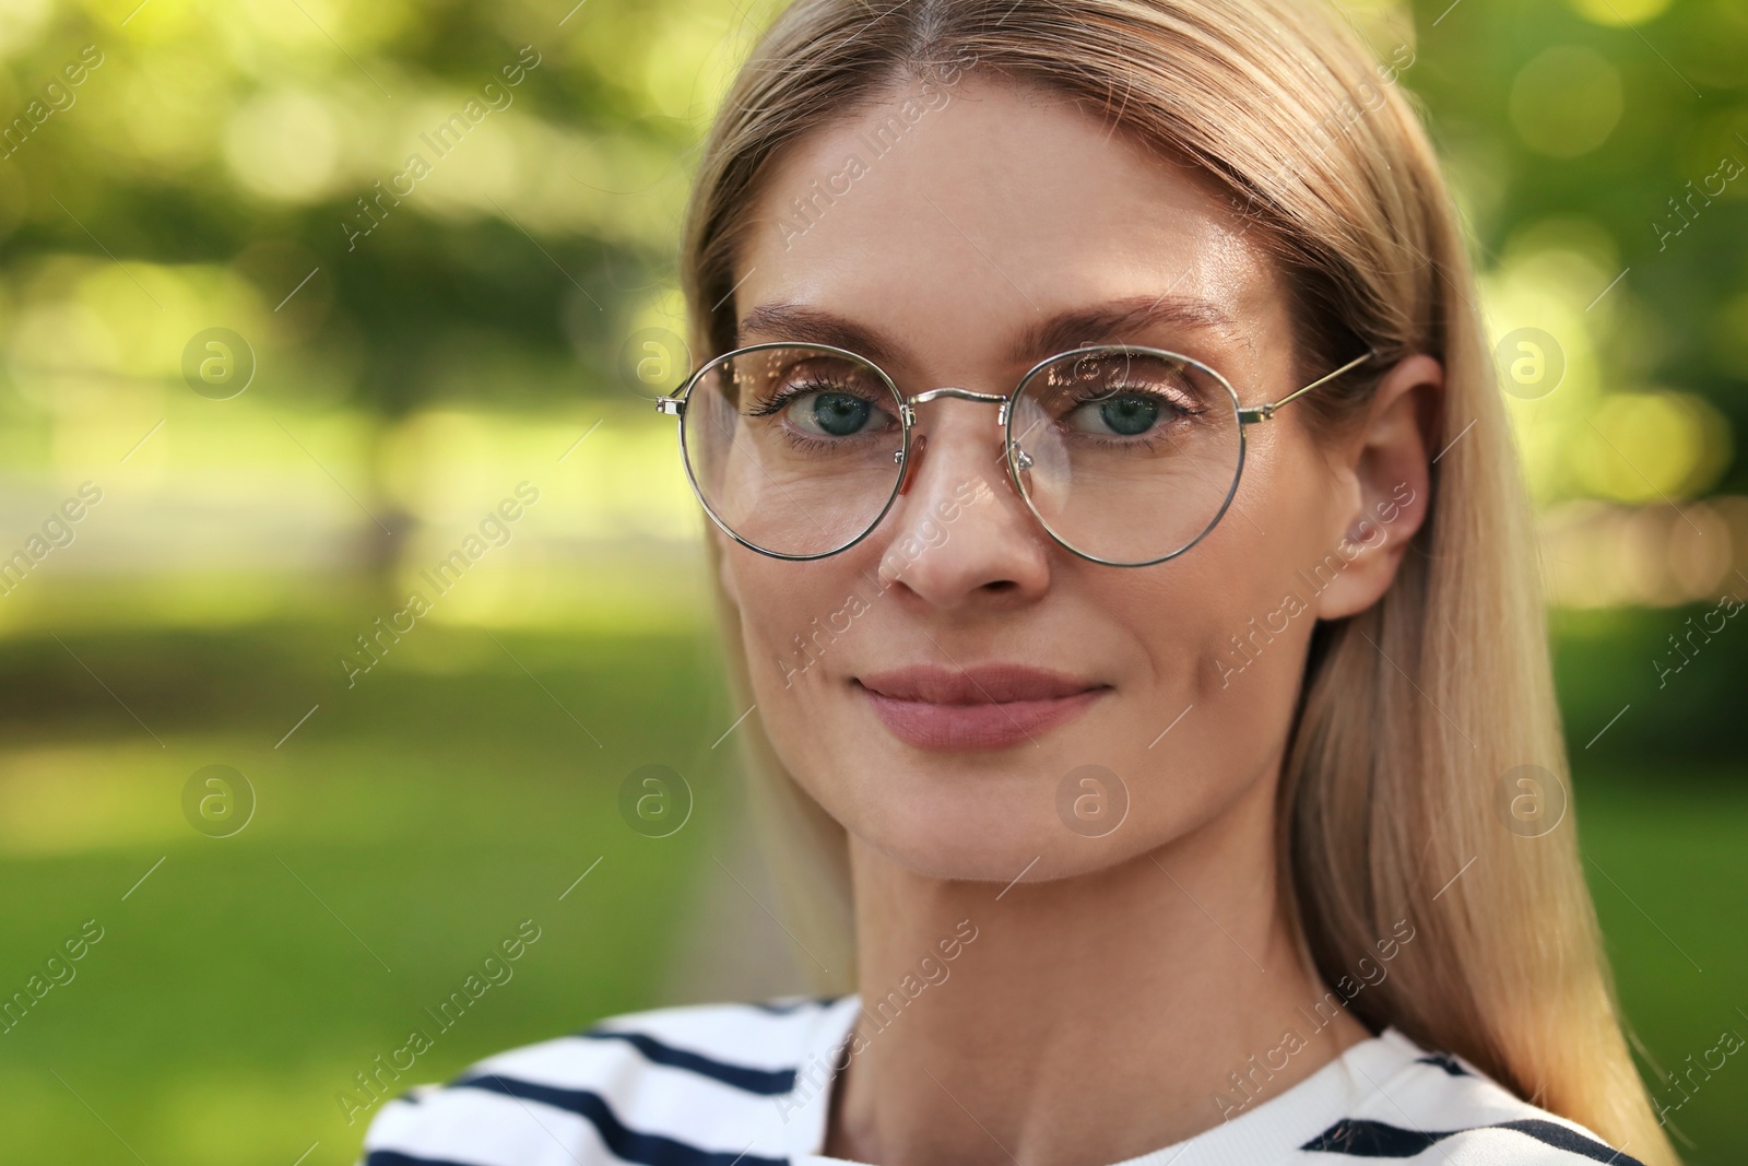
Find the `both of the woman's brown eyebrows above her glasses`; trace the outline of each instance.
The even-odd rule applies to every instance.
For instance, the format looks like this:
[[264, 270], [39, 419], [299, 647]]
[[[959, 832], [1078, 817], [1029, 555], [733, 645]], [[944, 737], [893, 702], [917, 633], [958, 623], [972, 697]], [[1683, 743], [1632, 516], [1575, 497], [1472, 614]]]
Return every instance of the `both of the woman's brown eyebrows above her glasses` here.
[[[1213, 301], [1190, 295], [1129, 295], [1091, 308], [1072, 308], [1028, 325], [1009, 350], [1009, 360], [1026, 364], [1082, 344], [1133, 343], [1140, 332], [1161, 325], [1215, 332], [1231, 332], [1236, 327], [1232, 316]], [[757, 343], [753, 337], [832, 344], [876, 364], [895, 362], [904, 348], [877, 329], [788, 301], [759, 304], [746, 313], [734, 332], [734, 344], [741, 348]]]

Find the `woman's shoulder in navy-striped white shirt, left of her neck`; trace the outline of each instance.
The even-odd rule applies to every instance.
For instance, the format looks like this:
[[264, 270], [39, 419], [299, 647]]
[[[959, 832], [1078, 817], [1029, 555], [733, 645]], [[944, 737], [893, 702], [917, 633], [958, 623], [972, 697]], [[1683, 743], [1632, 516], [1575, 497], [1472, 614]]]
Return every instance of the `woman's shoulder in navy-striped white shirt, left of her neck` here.
[[780, 1166], [797, 1072], [851, 1010], [853, 998], [656, 1009], [510, 1049], [388, 1101], [360, 1166]]

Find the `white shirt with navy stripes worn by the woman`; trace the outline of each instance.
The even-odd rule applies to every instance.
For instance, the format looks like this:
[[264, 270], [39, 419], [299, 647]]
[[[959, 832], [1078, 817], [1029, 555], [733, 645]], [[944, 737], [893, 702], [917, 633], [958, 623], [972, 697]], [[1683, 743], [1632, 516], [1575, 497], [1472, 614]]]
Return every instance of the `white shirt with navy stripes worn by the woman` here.
[[[371, 1122], [360, 1166], [844, 1166], [830, 1065], [857, 996], [657, 1009], [500, 1052]], [[893, 1021], [897, 1023], [897, 1021]], [[1276, 1096], [1119, 1166], [1641, 1166], [1395, 1028]]]

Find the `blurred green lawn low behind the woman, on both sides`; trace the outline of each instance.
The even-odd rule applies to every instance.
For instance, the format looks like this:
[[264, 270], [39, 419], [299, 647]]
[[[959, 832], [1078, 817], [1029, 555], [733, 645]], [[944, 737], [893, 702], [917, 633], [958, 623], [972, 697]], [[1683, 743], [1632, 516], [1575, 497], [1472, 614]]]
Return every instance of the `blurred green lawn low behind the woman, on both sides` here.
[[[337, 1094], [411, 1028], [435, 1044], [399, 1084], [659, 998], [669, 920], [727, 813], [706, 762], [739, 710], [706, 647], [430, 628], [348, 689], [327, 661], [351, 631], [9, 642], [0, 989], [82, 921], [103, 928], [0, 1035], [9, 1163], [353, 1163], [369, 1110], [348, 1124]], [[1584, 757], [1577, 822], [1620, 996], [1673, 1070], [1748, 1033], [1748, 783]], [[649, 762], [696, 795], [666, 839], [619, 818]], [[208, 764], [255, 790], [232, 837], [182, 816]], [[540, 939], [512, 979], [437, 1031], [427, 1009], [524, 920]], [[1745, 1098], [1748, 1051], [1680, 1110], [1694, 1166], [1745, 1159]]]

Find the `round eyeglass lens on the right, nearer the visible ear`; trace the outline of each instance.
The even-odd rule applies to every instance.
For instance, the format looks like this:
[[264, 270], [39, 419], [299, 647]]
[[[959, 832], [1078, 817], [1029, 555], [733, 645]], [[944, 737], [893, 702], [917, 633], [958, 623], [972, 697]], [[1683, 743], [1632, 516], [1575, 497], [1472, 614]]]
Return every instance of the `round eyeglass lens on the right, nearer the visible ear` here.
[[1063, 353], [1026, 378], [1009, 418], [1009, 458], [1038, 521], [1126, 566], [1201, 538], [1225, 512], [1243, 449], [1225, 378], [1147, 348]]

